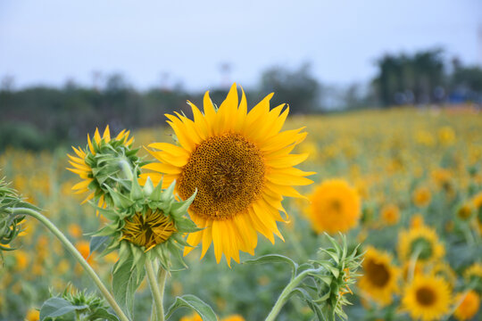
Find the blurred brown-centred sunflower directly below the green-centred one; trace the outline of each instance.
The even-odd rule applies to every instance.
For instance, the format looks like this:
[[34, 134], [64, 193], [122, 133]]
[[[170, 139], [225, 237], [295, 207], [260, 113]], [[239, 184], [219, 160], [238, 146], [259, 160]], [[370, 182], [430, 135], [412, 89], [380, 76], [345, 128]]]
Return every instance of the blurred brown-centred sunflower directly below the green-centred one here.
[[403, 290], [402, 307], [412, 318], [439, 320], [450, 310], [448, 284], [439, 276], [418, 275]]

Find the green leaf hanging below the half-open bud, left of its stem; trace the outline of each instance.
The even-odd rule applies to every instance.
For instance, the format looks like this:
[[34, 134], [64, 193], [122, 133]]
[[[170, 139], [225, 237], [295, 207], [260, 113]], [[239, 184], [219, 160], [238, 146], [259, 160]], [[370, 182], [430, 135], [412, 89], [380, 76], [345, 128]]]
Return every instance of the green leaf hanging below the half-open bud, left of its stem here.
[[132, 257], [126, 259], [119, 267], [115, 268], [112, 275], [112, 292], [120, 307], [132, 318], [134, 307], [134, 294], [145, 276], [143, 269], [141, 277], [137, 276], [135, 268], [132, 268]]

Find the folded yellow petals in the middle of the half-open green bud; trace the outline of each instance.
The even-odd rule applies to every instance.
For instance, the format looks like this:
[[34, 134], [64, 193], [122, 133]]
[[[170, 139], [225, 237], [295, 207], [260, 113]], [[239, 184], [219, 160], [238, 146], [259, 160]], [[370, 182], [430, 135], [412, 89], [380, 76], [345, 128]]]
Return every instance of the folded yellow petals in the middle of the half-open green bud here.
[[174, 222], [162, 211], [147, 210], [144, 215], [136, 213], [134, 217], [126, 219], [122, 238], [150, 250], [155, 245], [166, 242], [174, 232]]

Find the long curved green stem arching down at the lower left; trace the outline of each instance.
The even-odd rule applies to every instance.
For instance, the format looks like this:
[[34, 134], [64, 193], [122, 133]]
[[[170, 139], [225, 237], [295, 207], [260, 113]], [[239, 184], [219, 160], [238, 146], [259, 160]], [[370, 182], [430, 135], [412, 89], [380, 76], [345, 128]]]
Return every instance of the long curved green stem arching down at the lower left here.
[[62, 242], [63, 246], [67, 249], [67, 251], [70, 251], [72, 256], [79, 261], [80, 266], [84, 268], [87, 272], [87, 275], [90, 276], [92, 281], [97, 285], [99, 288], [100, 292], [104, 295], [105, 300], [109, 302], [111, 305], [112, 309], [115, 311], [117, 316], [120, 318], [120, 321], [129, 321], [129, 317], [126, 317], [124, 312], [122, 312], [122, 309], [120, 309], [119, 305], [117, 302], [114, 300], [112, 297], [111, 292], [107, 290], [105, 287], [104, 283], [100, 279], [99, 276], [97, 276], [96, 271], [88, 265], [86, 259], [82, 257], [82, 254], [79, 253], [79, 251], [73, 246], [71, 241], [63, 233], [57, 228], [57, 226], [54, 226], [54, 223], [52, 223], [48, 218], [37, 212], [37, 210], [30, 210], [30, 209], [24, 209], [24, 208], [18, 208], [18, 209], [9, 209], [12, 214], [14, 215], [29, 215], [32, 218], [37, 218], [37, 220], [40, 221], [40, 223], [44, 224], [52, 234], [54, 234], [60, 242]]

